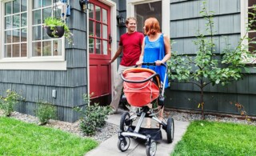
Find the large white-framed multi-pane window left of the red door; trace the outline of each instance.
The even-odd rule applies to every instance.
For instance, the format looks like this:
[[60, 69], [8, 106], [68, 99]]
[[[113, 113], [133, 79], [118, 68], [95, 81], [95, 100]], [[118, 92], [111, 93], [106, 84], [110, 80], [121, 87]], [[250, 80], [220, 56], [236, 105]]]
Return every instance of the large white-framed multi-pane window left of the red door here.
[[[1, 69], [16, 66], [17, 70], [66, 70], [64, 37], [50, 38], [42, 27], [44, 18], [61, 15], [61, 5], [55, 0], [0, 0], [4, 9], [0, 12]], [[30, 64], [26, 66], [26, 62]], [[37, 65], [33, 66], [33, 62]], [[50, 64], [43, 64], [40, 69], [38, 62]], [[53, 62], [58, 63], [53, 65]]]

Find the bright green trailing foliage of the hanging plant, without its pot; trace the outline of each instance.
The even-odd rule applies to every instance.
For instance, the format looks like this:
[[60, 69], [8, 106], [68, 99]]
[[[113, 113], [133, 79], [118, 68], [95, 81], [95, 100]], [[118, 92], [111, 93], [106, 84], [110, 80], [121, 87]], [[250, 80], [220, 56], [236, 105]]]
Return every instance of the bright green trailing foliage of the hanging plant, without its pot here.
[[55, 17], [48, 17], [44, 19], [44, 26], [48, 27], [50, 26], [50, 30], [53, 30], [52, 34], [54, 37], [56, 36], [56, 26], [63, 26], [65, 30], [65, 38], [69, 44], [73, 43], [72, 36], [73, 34], [70, 32], [69, 26], [66, 25], [66, 22], [64, 22], [61, 18], [55, 18]]

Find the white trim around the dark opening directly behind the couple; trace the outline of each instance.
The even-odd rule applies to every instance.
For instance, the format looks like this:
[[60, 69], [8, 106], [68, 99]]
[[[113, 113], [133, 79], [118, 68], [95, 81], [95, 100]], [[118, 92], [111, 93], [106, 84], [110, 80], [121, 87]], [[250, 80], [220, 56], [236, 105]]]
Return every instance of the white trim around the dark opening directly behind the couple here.
[[126, 17], [135, 16], [134, 5], [158, 1], [162, 1], [162, 27], [165, 26], [162, 33], [170, 36], [170, 0], [126, 0]]

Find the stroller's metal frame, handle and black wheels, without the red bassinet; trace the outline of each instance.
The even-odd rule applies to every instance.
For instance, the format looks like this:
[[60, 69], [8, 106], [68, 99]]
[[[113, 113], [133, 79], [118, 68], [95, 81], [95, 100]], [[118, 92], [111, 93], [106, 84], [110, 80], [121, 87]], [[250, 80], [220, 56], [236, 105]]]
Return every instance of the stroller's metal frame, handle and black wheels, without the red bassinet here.
[[[146, 66], [156, 66], [155, 63], [142, 63], [142, 65]], [[166, 74], [165, 74], [165, 79], [164, 81], [166, 82], [166, 75], [167, 75], [167, 66], [165, 64], [161, 64], [161, 66], [166, 67]], [[131, 82], [131, 83], [140, 83], [140, 82], [146, 82], [150, 81], [151, 78], [158, 77], [158, 74], [152, 74], [149, 78], [146, 78], [145, 80], [142, 81], [133, 81], [133, 80], [128, 80], [123, 77], [122, 79], [124, 82]], [[160, 80], [159, 80], [160, 81]], [[163, 84], [165, 84], [165, 82]], [[167, 134], [167, 142], [171, 143], [174, 140], [174, 119], [169, 117], [167, 122], [164, 120], [161, 121], [160, 119], [157, 118], [157, 114], [162, 110], [164, 106], [164, 89], [163, 86], [159, 87], [159, 96], [156, 99], [158, 102], [158, 108], [149, 108], [148, 106], [142, 106], [138, 107], [138, 110], [136, 112], [133, 112], [134, 114], [130, 116], [129, 112], [124, 112], [122, 114], [121, 120], [120, 120], [120, 130], [118, 131], [118, 149], [121, 150], [122, 152], [128, 150], [130, 146], [130, 138], [142, 138], [143, 140], [146, 140], [146, 155], [147, 156], [154, 156], [156, 154], [157, 150], [157, 144], [154, 141], [154, 136], [152, 137], [150, 134], [147, 134], [147, 132], [150, 131], [160, 131], [160, 139], [162, 139], [162, 134], [161, 134], [161, 127], [163, 130], [166, 130]], [[124, 97], [124, 96], [123, 96]], [[159, 106], [161, 107], [159, 109]], [[127, 106], [129, 110], [132, 110], [129, 106]], [[156, 113], [154, 113], [154, 110], [158, 109]], [[134, 127], [132, 126], [132, 122], [136, 120], [136, 118], [139, 117], [137, 125]], [[152, 129], [152, 128], [142, 128], [142, 122], [144, 118], [152, 118], [154, 121], [158, 122], [159, 127], [157, 129]]]

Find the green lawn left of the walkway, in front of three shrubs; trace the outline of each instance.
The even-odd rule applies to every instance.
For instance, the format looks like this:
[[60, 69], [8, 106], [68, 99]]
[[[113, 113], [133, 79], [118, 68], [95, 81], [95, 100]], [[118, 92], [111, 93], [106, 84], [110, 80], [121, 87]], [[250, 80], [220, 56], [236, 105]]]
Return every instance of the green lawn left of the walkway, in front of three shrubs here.
[[0, 155], [84, 155], [96, 146], [90, 138], [0, 117]]

